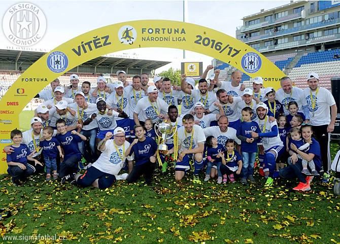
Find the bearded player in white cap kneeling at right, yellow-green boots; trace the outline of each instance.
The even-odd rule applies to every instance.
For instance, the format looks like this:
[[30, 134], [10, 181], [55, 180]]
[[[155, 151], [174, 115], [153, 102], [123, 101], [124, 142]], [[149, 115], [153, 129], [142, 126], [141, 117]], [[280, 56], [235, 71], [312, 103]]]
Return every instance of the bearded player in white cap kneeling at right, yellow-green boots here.
[[[259, 118], [259, 127], [261, 133], [256, 133], [252, 131], [252, 137], [262, 138], [262, 145], [264, 148], [264, 177], [267, 179], [264, 186], [272, 186], [273, 185], [273, 174], [275, 172], [276, 159], [280, 158], [280, 156], [284, 153], [283, 143], [281, 141], [279, 135], [279, 128], [276, 120], [273, 122], [269, 121], [269, 117], [267, 115], [268, 108], [266, 104], [260, 102], [256, 106], [256, 114]], [[279, 176], [276, 176], [279, 177]]]

